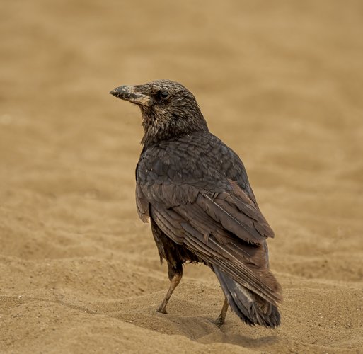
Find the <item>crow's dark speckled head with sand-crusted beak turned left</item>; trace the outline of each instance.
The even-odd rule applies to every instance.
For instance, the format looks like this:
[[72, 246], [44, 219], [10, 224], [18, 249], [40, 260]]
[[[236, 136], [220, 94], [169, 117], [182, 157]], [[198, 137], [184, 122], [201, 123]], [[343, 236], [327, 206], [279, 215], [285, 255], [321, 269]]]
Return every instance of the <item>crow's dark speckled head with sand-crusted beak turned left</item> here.
[[198, 130], [208, 131], [195, 97], [178, 82], [158, 80], [143, 85], [120, 86], [110, 93], [141, 109], [145, 131], [143, 144]]

